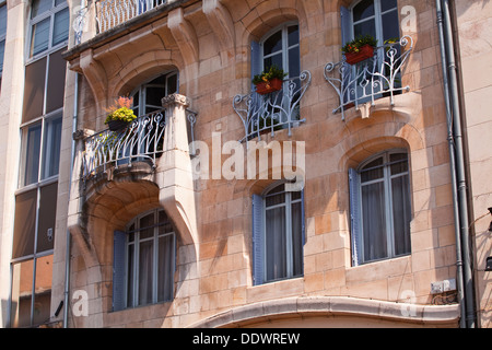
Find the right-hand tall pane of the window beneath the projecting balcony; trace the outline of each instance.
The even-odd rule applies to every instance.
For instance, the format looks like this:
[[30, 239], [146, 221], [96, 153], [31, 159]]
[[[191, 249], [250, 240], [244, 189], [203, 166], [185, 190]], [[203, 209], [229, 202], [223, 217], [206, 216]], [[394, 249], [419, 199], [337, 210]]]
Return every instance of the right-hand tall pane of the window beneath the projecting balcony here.
[[174, 235], [168, 234], [159, 238], [159, 279], [157, 302], [173, 299], [174, 287]]

